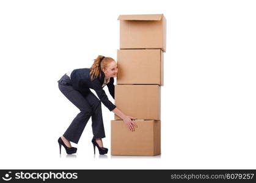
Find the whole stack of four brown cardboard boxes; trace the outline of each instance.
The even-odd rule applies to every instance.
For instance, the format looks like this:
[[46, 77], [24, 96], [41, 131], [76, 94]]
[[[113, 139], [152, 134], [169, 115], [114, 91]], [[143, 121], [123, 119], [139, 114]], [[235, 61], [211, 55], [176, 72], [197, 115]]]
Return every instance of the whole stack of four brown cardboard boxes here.
[[161, 153], [161, 86], [166, 51], [164, 15], [120, 15], [115, 106], [137, 118], [129, 131], [115, 115], [111, 121], [111, 155], [156, 156]]

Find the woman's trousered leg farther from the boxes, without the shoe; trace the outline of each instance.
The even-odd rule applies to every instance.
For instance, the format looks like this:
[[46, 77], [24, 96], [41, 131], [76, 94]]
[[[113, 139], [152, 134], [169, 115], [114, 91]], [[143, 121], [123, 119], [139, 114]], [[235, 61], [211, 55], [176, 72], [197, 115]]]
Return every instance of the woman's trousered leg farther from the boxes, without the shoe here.
[[84, 127], [86, 127], [86, 124], [92, 115], [92, 107], [84, 96], [82, 96], [79, 91], [76, 91], [71, 85], [59, 84], [59, 89], [68, 100], [80, 110], [63, 135], [68, 141], [78, 143], [79, 138], [84, 131]]

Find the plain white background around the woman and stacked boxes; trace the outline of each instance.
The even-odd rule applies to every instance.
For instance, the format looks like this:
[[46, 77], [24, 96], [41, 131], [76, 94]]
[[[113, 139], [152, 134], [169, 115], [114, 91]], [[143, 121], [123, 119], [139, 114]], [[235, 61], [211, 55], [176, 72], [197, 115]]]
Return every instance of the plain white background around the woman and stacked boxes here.
[[[0, 1], [0, 168], [256, 168], [255, 9], [255, 1]], [[76, 155], [60, 157], [57, 138], [79, 110], [57, 80], [98, 55], [116, 60], [119, 15], [159, 13], [161, 156], [93, 156], [89, 121]], [[114, 114], [103, 106], [103, 117], [110, 149]]]

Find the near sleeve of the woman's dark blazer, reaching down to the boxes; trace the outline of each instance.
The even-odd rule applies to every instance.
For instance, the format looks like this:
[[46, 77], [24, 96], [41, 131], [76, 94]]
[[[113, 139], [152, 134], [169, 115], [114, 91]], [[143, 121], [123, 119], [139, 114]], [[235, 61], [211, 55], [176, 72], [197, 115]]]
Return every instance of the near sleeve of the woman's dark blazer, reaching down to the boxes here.
[[98, 98], [100, 98], [100, 101], [103, 102], [104, 106], [106, 106], [110, 111], [115, 109], [116, 106], [111, 101], [109, 101], [108, 96], [101, 87], [100, 81], [97, 78], [93, 79], [92, 86], [93, 90], [95, 90], [95, 92], [98, 95]]

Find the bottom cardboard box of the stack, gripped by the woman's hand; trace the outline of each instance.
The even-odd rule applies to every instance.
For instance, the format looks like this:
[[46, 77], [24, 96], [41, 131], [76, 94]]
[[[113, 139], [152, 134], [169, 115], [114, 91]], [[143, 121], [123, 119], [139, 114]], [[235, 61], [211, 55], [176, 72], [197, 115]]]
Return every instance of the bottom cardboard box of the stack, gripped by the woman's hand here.
[[161, 121], [135, 120], [135, 131], [123, 120], [111, 121], [111, 155], [156, 156], [161, 153]]

